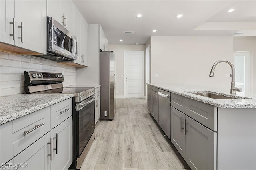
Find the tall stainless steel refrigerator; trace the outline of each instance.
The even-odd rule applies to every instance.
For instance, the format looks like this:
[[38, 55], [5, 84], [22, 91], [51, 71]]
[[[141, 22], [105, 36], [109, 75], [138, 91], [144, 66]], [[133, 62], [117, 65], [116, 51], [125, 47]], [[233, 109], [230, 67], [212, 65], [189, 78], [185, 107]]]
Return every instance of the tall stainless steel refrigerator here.
[[115, 116], [115, 59], [113, 51], [100, 52], [100, 120]]

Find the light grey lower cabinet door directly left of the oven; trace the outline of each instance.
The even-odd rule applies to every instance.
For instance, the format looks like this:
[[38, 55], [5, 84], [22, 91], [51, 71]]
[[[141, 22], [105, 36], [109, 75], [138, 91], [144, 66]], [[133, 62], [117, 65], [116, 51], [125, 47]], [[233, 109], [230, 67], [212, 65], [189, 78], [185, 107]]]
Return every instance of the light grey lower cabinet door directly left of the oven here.
[[51, 169], [68, 169], [72, 163], [72, 116], [52, 129], [50, 135], [53, 138]]

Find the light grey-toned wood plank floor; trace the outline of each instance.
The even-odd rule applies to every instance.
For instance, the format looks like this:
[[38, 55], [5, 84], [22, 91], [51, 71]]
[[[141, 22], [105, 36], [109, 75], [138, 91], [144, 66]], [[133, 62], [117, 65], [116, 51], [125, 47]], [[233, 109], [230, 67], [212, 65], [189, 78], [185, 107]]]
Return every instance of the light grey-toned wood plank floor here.
[[116, 99], [113, 121], [98, 121], [81, 170], [190, 169], [148, 113], [145, 99]]

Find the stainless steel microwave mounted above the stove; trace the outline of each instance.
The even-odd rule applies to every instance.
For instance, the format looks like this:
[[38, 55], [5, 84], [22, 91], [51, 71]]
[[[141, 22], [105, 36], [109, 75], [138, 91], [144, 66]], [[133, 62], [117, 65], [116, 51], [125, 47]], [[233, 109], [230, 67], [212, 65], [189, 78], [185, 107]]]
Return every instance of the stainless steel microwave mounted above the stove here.
[[47, 17], [47, 55], [40, 57], [54, 61], [77, 59], [77, 38], [52, 17]]

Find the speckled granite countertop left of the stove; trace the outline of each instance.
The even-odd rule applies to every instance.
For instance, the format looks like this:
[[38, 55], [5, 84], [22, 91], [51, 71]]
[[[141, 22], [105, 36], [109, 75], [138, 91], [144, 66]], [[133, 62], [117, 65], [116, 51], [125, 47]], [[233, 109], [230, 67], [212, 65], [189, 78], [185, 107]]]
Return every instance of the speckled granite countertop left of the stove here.
[[0, 97], [0, 125], [73, 96], [61, 93], [36, 93]]

